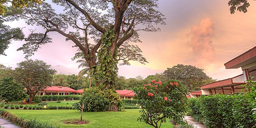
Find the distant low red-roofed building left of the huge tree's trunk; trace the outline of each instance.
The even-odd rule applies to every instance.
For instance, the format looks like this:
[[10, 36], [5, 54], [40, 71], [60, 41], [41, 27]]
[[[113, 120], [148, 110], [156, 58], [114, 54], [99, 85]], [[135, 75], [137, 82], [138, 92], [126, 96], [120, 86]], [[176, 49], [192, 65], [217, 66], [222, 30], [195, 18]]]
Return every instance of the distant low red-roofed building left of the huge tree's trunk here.
[[76, 90], [69, 87], [52, 86], [47, 87], [44, 91], [38, 91], [37, 95], [70, 95], [71, 93], [75, 94], [76, 92]]

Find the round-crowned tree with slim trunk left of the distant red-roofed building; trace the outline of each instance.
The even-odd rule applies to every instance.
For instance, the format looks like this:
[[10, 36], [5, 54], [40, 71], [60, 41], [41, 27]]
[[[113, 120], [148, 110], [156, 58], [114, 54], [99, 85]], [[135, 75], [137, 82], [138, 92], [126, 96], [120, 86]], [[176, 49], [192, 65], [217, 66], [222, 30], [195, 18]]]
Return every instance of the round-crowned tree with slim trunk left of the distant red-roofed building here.
[[36, 59], [28, 59], [17, 64], [15, 78], [21, 83], [29, 94], [29, 104], [40, 90], [52, 85], [52, 75], [56, 70], [51, 69], [46, 62]]

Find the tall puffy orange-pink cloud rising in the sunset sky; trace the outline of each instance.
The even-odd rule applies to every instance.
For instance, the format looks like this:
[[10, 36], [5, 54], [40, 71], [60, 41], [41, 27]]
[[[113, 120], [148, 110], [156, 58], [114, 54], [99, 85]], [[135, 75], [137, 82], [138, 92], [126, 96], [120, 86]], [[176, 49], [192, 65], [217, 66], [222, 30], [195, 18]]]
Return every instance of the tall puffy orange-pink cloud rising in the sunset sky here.
[[214, 60], [215, 49], [212, 46], [214, 36], [212, 19], [209, 17], [203, 18], [197, 26], [191, 28], [190, 35], [192, 37], [188, 44], [192, 48], [195, 65], [203, 67], [206, 71], [214, 71], [215, 64], [212, 61]]

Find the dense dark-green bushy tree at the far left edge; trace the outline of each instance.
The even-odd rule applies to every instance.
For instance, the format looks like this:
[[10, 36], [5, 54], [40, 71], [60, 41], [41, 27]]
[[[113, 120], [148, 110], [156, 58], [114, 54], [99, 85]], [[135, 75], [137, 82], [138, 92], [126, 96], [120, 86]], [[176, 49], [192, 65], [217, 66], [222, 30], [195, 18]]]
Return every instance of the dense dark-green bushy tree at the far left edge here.
[[26, 93], [24, 93], [24, 86], [18, 84], [14, 81], [13, 77], [3, 78], [0, 81], [0, 99], [9, 101], [18, 101], [26, 98]]

